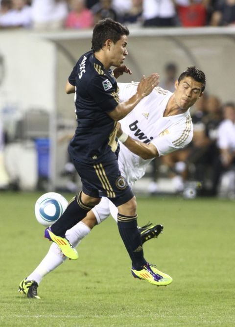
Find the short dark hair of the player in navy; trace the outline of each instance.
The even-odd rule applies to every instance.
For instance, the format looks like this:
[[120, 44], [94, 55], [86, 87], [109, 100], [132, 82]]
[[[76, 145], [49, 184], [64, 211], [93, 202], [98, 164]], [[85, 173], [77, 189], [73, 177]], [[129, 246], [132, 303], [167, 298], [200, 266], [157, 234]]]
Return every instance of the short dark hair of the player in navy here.
[[106, 40], [110, 39], [115, 44], [122, 35], [129, 35], [129, 30], [122, 24], [110, 18], [103, 19], [94, 25], [92, 36], [92, 49], [99, 51], [104, 46]]

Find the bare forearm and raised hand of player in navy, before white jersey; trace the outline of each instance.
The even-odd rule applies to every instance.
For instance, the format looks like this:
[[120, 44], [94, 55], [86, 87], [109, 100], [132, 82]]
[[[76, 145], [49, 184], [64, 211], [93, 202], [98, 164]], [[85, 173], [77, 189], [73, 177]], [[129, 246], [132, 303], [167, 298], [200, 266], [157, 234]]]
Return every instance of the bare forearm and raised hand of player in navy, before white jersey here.
[[124, 118], [135, 108], [141, 99], [151, 93], [158, 84], [159, 74], [153, 73], [147, 78], [143, 76], [138, 85], [137, 92], [127, 101], [119, 103], [115, 110], [108, 113], [108, 115], [115, 121]]

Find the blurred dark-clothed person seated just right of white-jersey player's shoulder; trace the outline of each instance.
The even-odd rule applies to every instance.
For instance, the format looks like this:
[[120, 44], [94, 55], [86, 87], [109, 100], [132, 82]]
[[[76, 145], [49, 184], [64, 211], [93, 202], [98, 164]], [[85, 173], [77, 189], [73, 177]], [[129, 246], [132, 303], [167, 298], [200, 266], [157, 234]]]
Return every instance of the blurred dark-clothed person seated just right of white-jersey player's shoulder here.
[[210, 95], [205, 99], [201, 120], [193, 124], [193, 139], [187, 158], [191, 178], [202, 183], [200, 195], [215, 195], [219, 183], [219, 151], [216, 146], [218, 126], [222, 120], [221, 103]]

